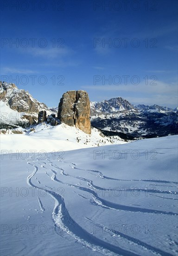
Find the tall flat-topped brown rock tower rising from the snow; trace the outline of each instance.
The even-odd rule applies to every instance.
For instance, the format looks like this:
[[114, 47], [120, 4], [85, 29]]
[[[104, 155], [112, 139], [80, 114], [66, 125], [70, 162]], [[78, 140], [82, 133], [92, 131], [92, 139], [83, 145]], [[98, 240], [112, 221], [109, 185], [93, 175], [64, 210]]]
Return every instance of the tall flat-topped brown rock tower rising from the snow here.
[[86, 91], [68, 91], [63, 94], [58, 107], [57, 118], [69, 125], [76, 126], [87, 134], [91, 134], [89, 120], [90, 103]]

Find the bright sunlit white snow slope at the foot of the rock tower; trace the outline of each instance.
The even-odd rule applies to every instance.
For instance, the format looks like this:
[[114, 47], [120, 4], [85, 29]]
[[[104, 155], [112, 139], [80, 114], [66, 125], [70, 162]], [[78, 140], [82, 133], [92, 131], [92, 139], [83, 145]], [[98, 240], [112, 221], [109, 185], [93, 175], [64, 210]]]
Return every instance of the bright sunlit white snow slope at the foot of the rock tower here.
[[[49, 124], [38, 124], [33, 129], [17, 128], [24, 134], [1, 134], [0, 144], [1, 152], [19, 152], [25, 150], [45, 150], [46, 152], [54, 152], [59, 150], [73, 150], [78, 148], [97, 147], [110, 144], [127, 143], [118, 136], [108, 138], [102, 135], [97, 129], [92, 128], [91, 135], [88, 135], [75, 127], [70, 127], [64, 123], [52, 127]], [[32, 131], [31, 131], [32, 130]]]

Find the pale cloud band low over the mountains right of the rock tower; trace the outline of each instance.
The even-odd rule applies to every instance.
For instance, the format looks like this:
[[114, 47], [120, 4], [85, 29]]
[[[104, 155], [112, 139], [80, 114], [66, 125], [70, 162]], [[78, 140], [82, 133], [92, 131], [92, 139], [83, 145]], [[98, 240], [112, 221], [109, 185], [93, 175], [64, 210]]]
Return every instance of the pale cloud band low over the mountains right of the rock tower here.
[[155, 81], [157, 85], [151, 85], [152, 82], [153, 81], [148, 80], [148, 85], [142, 82], [138, 85], [86, 85], [81, 86], [81, 88], [88, 91], [100, 91], [100, 96], [103, 95], [103, 100], [118, 96], [125, 98], [132, 104], [158, 104], [175, 108], [175, 106], [178, 105], [177, 84]]

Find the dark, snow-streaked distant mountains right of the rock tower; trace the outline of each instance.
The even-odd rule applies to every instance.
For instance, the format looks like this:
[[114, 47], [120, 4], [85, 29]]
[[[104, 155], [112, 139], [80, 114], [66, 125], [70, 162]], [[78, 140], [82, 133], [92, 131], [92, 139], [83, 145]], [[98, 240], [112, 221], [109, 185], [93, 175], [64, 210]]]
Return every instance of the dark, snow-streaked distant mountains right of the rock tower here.
[[[119, 98], [91, 102], [92, 126], [133, 137], [156, 137], [178, 134], [177, 109], [159, 105], [134, 106]], [[113, 133], [112, 133], [113, 134]]]

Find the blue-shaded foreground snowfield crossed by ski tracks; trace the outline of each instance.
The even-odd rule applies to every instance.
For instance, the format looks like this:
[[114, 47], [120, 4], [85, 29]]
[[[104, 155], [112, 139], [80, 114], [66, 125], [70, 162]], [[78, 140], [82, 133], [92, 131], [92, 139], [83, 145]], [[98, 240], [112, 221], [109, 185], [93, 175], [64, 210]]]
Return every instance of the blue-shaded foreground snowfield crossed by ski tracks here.
[[1, 155], [0, 255], [177, 255], [177, 145]]

